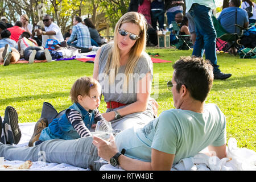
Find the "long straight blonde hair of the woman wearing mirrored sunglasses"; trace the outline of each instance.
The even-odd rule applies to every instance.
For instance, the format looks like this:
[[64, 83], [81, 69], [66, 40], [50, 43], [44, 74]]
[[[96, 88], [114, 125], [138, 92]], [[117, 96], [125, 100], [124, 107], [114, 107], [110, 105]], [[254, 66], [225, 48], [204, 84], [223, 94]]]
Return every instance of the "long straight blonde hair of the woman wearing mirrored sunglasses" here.
[[[125, 76], [126, 76], [126, 82], [124, 83], [124, 86], [126, 87], [129, 83], [129, 77], [128, 75], [130, 73], [133, 73], [135, 65], [137, 64], [139, 57], [141, 57], [143, 51], [146, 48], [146, 39], [147, 39], [147, 22], [144, 16], [137, 12], [129, 12], [124, 14], [115, 25], [115, 31], [114, 31], [114, 43], [112, 46], [112, 49], [110, 50], [108, 61], [106, 63], [105, 67], [105, 73], [106, 75], [109, 75], [109, 82], [113, 83], [115, 80], [115, 76], [118, 73], [118, 69], [120, 67], [120, 53], [119, 48], [117, 45], [117, 36], [118, 36], [118, 30], [121, 27], [123, 23], [134, 23], [137, 24], [140, 28], [139, 32], [139, 39], [136, 40], [134, 46], [130, 50], [129, 55], [129, 61], [126, 64], [125, 68]], [[113, 74], [113, 72], [115, 74]]]

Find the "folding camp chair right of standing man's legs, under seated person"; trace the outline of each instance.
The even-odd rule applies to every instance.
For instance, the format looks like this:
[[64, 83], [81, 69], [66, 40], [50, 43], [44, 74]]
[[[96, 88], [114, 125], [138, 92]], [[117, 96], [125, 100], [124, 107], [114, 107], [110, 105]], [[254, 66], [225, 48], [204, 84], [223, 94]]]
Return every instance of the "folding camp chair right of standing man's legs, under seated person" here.
[[[230, 34], [227, 32], [218, 22], [215, 16], [212, 16], [213, 26], [216, 30], [217, 38], [216, 38], [216, 49], [218, 51], [221, 51], [225, 44], [228, 43], [227, 47], [225, 47], [224, 51], [228, 51], [230, 48], [234, 47], [239, 49], [240, 45], [237, 44], [237, 40], [240, 39], [241, 35], [238, 35], [237, 33]], [[236, 26], [236, 24], [234, 24]], [[221, 41], [222, 40], [222, 41]], [[220, 44], [220, 45], [218, 45]], [[231, 52], [229, 52], [232, 54]], [[233, 55], [233, 54], [232, 54]], [[237, 52], [234, 52], [234, 56], [237, 55]]]

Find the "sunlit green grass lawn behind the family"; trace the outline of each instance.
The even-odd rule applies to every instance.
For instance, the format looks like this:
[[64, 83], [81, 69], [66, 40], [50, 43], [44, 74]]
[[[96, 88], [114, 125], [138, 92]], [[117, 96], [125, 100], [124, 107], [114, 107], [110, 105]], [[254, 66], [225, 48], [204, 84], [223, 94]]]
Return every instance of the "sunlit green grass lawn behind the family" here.
[[[180, 56], [190, 56], [192, 51], [147, 48], [147, 52], [159, 53], [159, 59], [172, 63], [154, 64], [154, 82], [151, 95], [158, 101], [158, 113], [174, 108], [172, 94], [166, 82], [172, 77], [172, 64]], [[237, 139], [238, 147], [256, 151], [255, 59], [218, 54], [218, 65], [224, 73], [232, 73], [228, 80], [214, 80], [206, 103], [217, 104], [226, 115], [227, 139]], [[57, 111], [71, 105], [69, 90], [73, 82], [82, 76], [92, 76], [93, 64], [77, 60], [53, 61], [52, 63], [10, 64], [0, 67], [0, 115], [6, 106], [14, 106], [19, 122], [36, 122], [40, 118], [43, 102], [50, 102]], [[106, 104], [102, 98], [100, 111]]]

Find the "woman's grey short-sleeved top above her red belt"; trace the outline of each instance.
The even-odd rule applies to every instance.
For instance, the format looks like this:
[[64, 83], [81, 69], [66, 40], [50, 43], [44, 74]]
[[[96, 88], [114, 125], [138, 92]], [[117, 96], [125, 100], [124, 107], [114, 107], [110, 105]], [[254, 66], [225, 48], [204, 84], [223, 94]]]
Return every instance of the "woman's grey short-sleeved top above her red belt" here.
[[[147, 55], [146, 52], [142, 54], [142, 56], [139, 58], [137, 65], [135, 65], [134, 73], [133, 73], [133, 79], [132, 81], [129, 81], [129, 85], [127, 93], [123, 92], [123, 82], [126, 79], [125, 77], [125, 68], [126, 65], [122, 65], [119, 70], [118, 74], [115, 77], [115, 82], [112, 84], [109, 83], [108, 79], [105, 79], [105, 66], [106, 62], [108, 60], [109, 52], [111, 51], [111, 47], [113, 44], [105, 44], [101, 47], [101, 53], [99, 58], [99, 68], [98, 68], [98, 81], [100, 82], [102, 86], [102, 93], [105, 98], [105, 102], [109, 101], [115, 101], [122, 104], [131, 104], [135, 101], [137, 101], [137, 82], [141, 80], [148, 72], [151, 73], [151, 82], [152, 82], [152, 74], [153, 74], [153, 68], [152, 68], [152, 61], [150, 56]], [[142, 90], [146, 89], [146, 83], [145, 86], [142, 83]], [[143, 90], [143, 91], [144, 91]], [[146, 90], [145, 90], [146, 92]]]

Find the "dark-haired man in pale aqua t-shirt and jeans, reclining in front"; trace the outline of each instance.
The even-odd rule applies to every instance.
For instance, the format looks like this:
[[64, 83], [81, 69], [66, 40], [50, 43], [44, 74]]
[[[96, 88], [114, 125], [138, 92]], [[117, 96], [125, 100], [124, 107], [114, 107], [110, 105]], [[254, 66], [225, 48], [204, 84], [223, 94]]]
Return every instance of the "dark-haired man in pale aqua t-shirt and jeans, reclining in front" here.
[[201, 58], [181, 57], [173, 67], [172, 81], [167, 86], [176, 109], [163, 111], [144, 127], [123, 130], [112, 135], [110, 142], [85, 137], [47, 140], [35, 147], [0, 143], [0, 156], [36, 161], [43, 151], [46, 162], [92, 170], [104, 164], [94, 162], [100, 157], [126, 170], [170, 170], [172, 164], [195, 156], [205, 147], [220, 159], [226, 157], [225, 116], [218, 106], [204, 103], [212, 87], [212, 65]]

